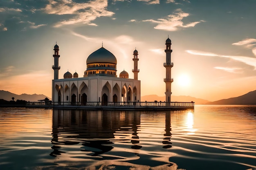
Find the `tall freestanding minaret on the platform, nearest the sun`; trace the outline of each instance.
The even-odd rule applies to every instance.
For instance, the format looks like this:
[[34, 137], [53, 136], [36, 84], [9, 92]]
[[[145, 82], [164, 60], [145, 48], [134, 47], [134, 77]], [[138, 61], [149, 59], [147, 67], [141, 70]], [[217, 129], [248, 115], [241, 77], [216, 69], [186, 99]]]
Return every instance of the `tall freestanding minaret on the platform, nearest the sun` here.
[[171, 40], [166, 40], [166, 49], [164, 52], [166, 53], [166, 62], [164, 63], [164, 67], [166, 68], [166, 78], [164, 78], [166, 90], [165, 90], [165, 101], [171, 102], [171, 83], [173, 82], [173, 79], [171, 78], [171, 68], [173, 67], [173, 63], [171, 62]]

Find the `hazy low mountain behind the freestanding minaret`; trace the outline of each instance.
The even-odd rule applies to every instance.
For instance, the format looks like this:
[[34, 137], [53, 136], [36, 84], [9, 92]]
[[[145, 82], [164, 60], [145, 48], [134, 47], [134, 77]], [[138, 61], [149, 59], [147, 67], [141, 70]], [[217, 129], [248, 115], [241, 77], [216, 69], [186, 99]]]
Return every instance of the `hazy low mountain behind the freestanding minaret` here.
[[[141, 102], [147, 101], [147, 102], [154, 102], [155, 100], [165, 101], [165, 96], [157, 96], [157, 95], [146, 95], [146, 96], [141, 96]], [[195, 104], [206, 104], [209, 101], [208, 100], [204, 100], [204, 99], [198, 99], [195, 97], [191, 97], [191, 96], [171, 96], [171, 101], [172, 102], [195, 102]]]

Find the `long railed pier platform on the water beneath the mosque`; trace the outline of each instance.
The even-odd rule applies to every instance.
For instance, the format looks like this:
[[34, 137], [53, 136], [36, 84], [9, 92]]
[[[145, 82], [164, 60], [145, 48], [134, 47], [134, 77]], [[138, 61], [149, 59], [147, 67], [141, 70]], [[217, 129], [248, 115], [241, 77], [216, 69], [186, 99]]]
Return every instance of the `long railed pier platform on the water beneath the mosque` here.
[[182, 110], [194, 109], [195, 102], [27, 102], [31, 108], [96, 110]]

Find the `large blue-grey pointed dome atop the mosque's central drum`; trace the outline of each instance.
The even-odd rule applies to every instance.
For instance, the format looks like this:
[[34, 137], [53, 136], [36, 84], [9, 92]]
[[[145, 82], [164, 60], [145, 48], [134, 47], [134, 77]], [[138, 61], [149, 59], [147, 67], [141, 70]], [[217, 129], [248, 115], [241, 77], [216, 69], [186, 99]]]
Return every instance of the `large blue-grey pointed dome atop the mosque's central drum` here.
[[97, 51], [94, 51], [89, 55], [86, 60], [86, 64], [91, 63], [112, 63], [117, 64], [117, 58], [110, 51], [106, 50], [104, 47], [101, 47]]

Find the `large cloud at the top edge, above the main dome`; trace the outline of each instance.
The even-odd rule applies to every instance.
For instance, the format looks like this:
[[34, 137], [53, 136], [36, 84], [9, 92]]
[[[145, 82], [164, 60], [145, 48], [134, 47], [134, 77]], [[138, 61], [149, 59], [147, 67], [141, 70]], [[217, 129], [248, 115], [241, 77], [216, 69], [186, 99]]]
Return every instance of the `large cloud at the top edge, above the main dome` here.
[[43, 11], [48, 14], [69, 14], [71, 16], [70, 19], [57, 22], [54, 27], [79, 23], [97, 26], [97, 24], [91, 22], [96, 18], [115, 14], [107, 11], [107, 6], [108, 0], [92, 0], [84, 3], [76, 3], [72, 0], [49, 0], [49, 4], [46, 5]]

